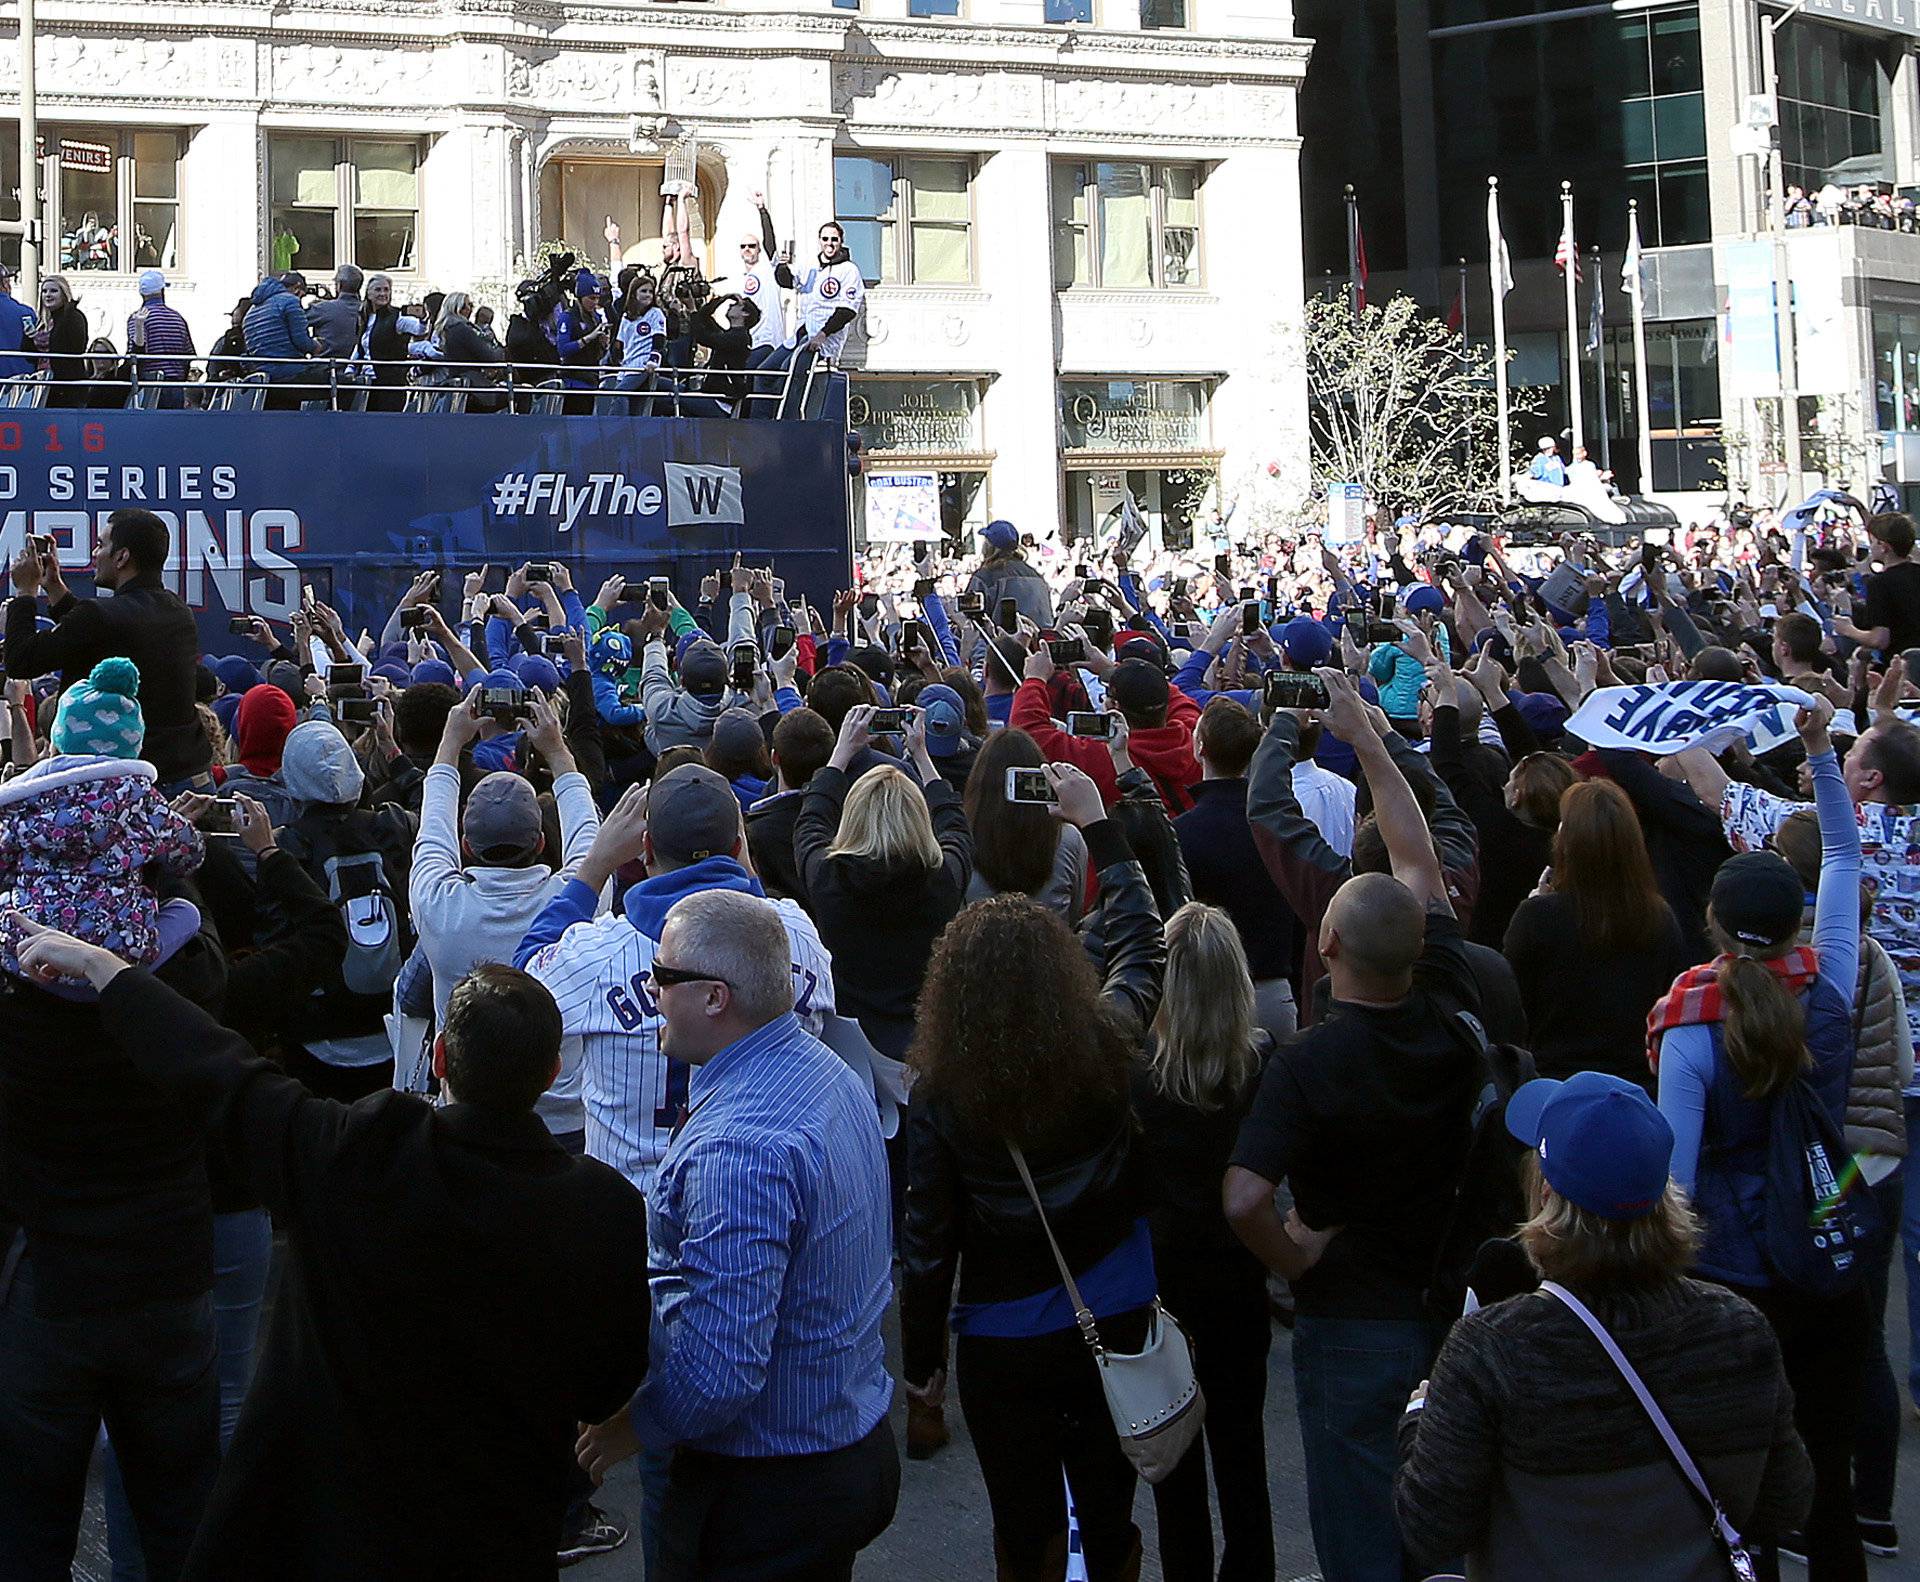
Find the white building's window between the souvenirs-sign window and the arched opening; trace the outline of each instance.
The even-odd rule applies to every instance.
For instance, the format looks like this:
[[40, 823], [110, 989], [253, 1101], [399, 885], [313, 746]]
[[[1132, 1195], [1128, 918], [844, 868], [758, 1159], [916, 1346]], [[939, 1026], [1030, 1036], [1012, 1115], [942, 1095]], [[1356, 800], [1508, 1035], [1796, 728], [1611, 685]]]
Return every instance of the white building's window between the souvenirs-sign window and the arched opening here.
[[267, 263], [330, 271], [415, 269], [420, 144], [413, 138], [271, 136]]

